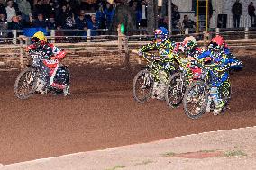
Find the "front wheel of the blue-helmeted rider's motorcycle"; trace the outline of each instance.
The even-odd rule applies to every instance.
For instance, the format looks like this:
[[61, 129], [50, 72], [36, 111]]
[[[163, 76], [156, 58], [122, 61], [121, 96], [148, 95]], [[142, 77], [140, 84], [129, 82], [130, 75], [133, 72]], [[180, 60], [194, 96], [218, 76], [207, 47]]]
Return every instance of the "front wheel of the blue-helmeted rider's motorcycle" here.
[[141, 70], [133, 79], [133, 98], [139, 103], [148, 101], [153, 90], [153, 79], [149, 70]]

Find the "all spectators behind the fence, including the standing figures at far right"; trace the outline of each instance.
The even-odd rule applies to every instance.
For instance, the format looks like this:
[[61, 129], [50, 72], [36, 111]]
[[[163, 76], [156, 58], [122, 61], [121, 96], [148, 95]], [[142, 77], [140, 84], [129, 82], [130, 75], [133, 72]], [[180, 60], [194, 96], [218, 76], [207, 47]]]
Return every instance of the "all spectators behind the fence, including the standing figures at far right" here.
[[[113, 2], [110, 4], [109, 2]], [[48, 28], [97, 30], [110, 29], [114, 22], [116, 7], [127, 2], [136, 28], [147, 26], [147, 0], [0, 0], [0, 30], [23, 30], [23, 28]], [[163, 1], [160, 10], [159, 25], [168, 27], [167, 3]], [[181, 19], [178, 6], [171, 4], [172, 28], [195, 28], [196, 22], [183, 15]], [[233, 4], [234, 27], [240, 26], [242, 4], [239, 0]], [[256, 25], [255, 8], [251, 2], [248, 6], [251, 26]], [[210, 15], [211, 17], [211, 15]]]

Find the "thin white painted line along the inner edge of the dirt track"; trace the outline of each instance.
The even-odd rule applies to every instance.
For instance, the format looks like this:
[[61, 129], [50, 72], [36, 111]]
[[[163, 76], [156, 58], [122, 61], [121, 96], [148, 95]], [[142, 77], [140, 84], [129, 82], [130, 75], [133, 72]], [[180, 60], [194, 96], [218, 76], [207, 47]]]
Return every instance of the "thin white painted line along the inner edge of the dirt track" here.
[[[190, 135], [186, 135], [186, 136], [180, 136], [180, 137], [174, 137], [171, 139], [180, 139], [180, 138], [185, 138], [185, 137], [190, 137], [190, 136], [196, 136], [196, 135], [200, 135], [200, 134], [207, 134], [207, 133], [216, 133], [216, 132], [221, 132], [221, 131], [231, 131], [231, 130], [245, 130], [245, 129], [252, 129], [252, 128], [256, 128], [256, 126], [252, 126], [252, 127], [244, 127], [244, 128], [238, 128], [238, 129], [230, 129], [230, 130], [217, 130], [217, 131], [208, 131], [208, 132], [202, 132], [202, 133], [195, 133], [195, 134], [190, 134]], [[9, 164], [9, 165], [2, 165], [2, 167], [7, 167], [7, 166], [15, 166], [15, 165], [25, 165], [27, 163], [39, 163], [39, 162], [43, 162], [43, 161], [49, 161], [52, 159], [57, 159], [59, 157], [72, 157], [72, 156], [78, 156], [80, 154], [84, 154], [84, 153], [88, 153], [88, 152], [103, 152], [103, 151], [111, 151], [111, 150], [117, 150], [118, 148], [123, 148], [123, 147], [132, 147], [134, 145], [142, 145], [142, 144], [151, 144], [154, 142], [160, 142], [160, 141], [166, 141], [169, 139], [160, 139], [160, 140], [155, 140], [155, 141], [151, 141], [151, 142], [147, 142], [147, 143], [139, 143], [139, 144], [132, 144], [132, 145], [125, 145], [125, 146], [121, 146], [121, 147], [114, 147], [114, 148], [105, 148], [102, 150], [92, 150], [92, 151], [87, 151], [87, 152], [78, 152], [78, 153], [73, 153], [73, 154], [67, 154], [67, 155], [62, 155], [62, 156], [58, 156], [58, 157], [47, 157], [47, 158], [40, 158], [40, 159], [34, 159], [31, 161], [25, 161], [25, 162], [20, 162], [20, 163], [14, 163], [14, 164]], [[1, 166], [1, 164], [0, 164]]]

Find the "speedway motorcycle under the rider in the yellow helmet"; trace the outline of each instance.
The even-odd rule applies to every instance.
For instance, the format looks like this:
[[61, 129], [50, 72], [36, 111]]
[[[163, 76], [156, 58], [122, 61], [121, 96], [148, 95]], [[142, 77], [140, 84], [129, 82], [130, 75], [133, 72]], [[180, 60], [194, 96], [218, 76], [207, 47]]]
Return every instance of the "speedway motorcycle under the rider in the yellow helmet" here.
[[[23, 71], [17, 76], [14, 84], [14, 94], [19, 99], [27, 99], [35, 94], [36, 92], [47, 94], [64, 94], [64, 96], [69, 94], [70, 86], [70, 73], [67, 66], [59, 64], [56, 75], [54, 76], [53, 82], [59, 85], [65, 85], [64, 89], [58, 87], [52, 87], [47, 85], [42, 86], [41, 72], [40, 72], [40, 62], [43, 58], [41, 52], [38, 50], [29, 51], [29, 64]], [[59, 61], [59, 60], [58, 60]]]

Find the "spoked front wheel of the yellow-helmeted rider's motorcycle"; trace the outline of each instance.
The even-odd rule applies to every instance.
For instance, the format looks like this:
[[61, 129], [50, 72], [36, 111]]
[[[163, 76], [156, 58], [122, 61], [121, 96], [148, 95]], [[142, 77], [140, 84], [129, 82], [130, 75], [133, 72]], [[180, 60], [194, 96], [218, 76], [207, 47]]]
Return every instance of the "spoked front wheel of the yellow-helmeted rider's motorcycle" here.
[[14, 94], [19, 99], [29, 98], [36, 90], [36, 72], [31, 67], [25, 68], [16, 78]]

